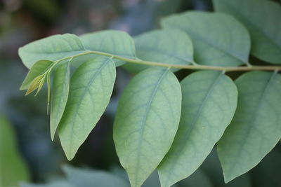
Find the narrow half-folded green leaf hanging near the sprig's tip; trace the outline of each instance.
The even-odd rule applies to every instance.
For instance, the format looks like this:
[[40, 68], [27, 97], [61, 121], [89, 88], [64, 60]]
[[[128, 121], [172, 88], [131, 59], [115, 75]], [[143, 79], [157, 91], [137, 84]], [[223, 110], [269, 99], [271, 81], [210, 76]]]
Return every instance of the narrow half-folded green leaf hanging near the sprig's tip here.
[[61, 64], [55, 71], [51, 102], [50, 130], [51, 139], [65, 111], [68, 92], [70, 89], [70, 62]]

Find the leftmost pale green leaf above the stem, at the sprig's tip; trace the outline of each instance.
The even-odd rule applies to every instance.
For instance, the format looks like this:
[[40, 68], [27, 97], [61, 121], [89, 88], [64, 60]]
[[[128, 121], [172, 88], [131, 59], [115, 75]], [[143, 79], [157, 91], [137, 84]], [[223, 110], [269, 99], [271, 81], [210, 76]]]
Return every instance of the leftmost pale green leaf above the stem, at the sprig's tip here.
[[59, 60], [63, 57], [85, 52], [78, 36], [74, 34], [53, 35], [33, 41], [18, 50], [20, 58], [27, 68], [39, 60]]

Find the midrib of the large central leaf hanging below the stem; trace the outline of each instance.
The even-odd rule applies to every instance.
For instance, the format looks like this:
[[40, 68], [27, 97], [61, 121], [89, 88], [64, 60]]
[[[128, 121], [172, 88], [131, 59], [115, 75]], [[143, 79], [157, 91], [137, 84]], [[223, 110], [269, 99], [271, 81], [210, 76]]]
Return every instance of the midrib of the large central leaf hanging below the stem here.
[[[160, 83], [162, 83], [162, 81], [163, 81], [165, 75], [168, 73], [168, 71], [169, 71], [169, 69], [167, 68], [163, 72], [162, 76], [160, 76], [160, 78], [158, 79], [157, 84], [155, 86], [155, 89], [153, 90], [152, 95], [150, 97], [150, 100], [148, 102], [147, 109], [146, 109], [146, 112], [145, 112], [145, 116], [144, 116], [143, 121], [141, 123], [142, 125], [141, 125], [141, 134], [140, 134], [140, 137], [138, 139], [138, 149], [137, 149], [138, 150], [138, 154], [137, 154], [136, 168], [139, 168], [139, 165], [140, 165], [140, 152], [141, 152], [141, 145], [143, 143], [143, 141], [142, 141], [142, 139], [143, 139], [143, 132], [145, 130], [145, 123], [146, 123], [146, 120], [148, 118], [148, 113], [150, 111], [150, 106], [152, 104], [153, 99], [155, 98], [155, 94], [156, 94], [156, 92], [157, 92], [157, 90], [159, 88]], [[135, 179], [138, 179], [138, 172], [139, 172], [139, 169], [136, 169]], [[135, 184], [137, 184], [137, 183], [138, 183], [138, 181], [136, 180]]]

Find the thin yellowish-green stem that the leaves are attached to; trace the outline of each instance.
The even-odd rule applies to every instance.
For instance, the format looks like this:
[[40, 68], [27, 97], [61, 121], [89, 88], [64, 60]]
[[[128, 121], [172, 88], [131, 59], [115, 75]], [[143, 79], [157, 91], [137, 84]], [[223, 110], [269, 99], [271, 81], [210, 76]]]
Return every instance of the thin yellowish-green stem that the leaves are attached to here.
[[73, 55], [70, 57], [65, 57], [63, 59], [55, 61], [55, 64], [61, 62], [63, 60], [67, 60], [69, 58], [79, 57], [81, 55], [89, 55], [89, 54], [96, 54], [96, 55], [103, 55], [107, 57], [116, 58], [119, 60], [124, 60], [126, 62], [134, 63], [134, 64], [144, 64], [148, 66], [157, 66], [157, 67], [168, 67], [168, 68], [176, 68], [176, 69], [204, 69], [204, 70], [218, 70], [218, 71], [254, 71], [254, 70], [265, 70], [265, 71], [280, 71], [281, 66], [244, 66], [244, 67], [215, 67], [215, 66], [206, 66], [196, 64], [192, 62], [193, 65], [181, 65], [181, 64], [164, 64], [159, 62], [150, 62], [145, 60], [140, 60], [138, 58], [129, 58], [129, 57], [121, 57], [118, 55], [112, 55], [110, 53], [103, 53], [100, 51], [86, 51], [85, 53], [79, 53], [77, 55]]

